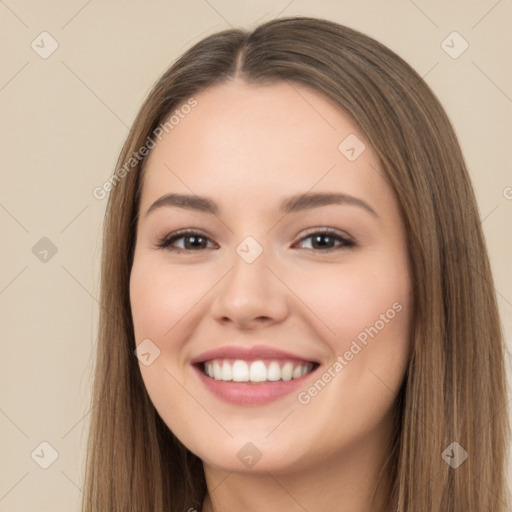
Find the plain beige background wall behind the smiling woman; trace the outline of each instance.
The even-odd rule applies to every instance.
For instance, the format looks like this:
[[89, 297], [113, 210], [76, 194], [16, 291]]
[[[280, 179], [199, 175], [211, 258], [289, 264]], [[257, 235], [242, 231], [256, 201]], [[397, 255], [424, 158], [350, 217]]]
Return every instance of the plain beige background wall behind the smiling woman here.
[[[106, 205], [92, 190], [142, 100], [204, 36], [294, 14], [375, 37], [440, 98], [477, 193], [510, 346], [511, 0], [0, 0], [0, 511], [79, 509]], [[58, 43], [47, 58], [31, 47], [51, 49], [43, 31]], [[441, 46], [453, 31], [469, 44], [456, 59]], [[57, 249], [46, 262], [34, 254], [43, 237]], [[58, 453], [48, 469], [36, 463], [51, 462], [43, 441]]]

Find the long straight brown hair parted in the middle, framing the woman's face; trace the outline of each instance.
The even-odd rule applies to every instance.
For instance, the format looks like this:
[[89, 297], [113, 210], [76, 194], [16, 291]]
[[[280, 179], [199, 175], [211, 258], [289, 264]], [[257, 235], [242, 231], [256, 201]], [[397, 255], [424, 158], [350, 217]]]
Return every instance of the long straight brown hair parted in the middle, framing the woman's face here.
[[[145, 159], [130, 159], [176, 108], [233, 78], [300, 83], [333, 100], [366, 134], [395, 191], [414, 314], [389, 502], [398, 499], [401, 512], [509, 510], [505, 345], [454, 130], [426, 83], [391, 50], [339, 24], [292, 17], [195, 44], [157, 81], [122, 148], [116, 168], [124, 172], [113, 175], [104, 223], [83, 512], [201, 509], [201, 461], [157, 414], [134, 355], [129, 279]], [[456, 469], [447, 463], [455, 452], [445, 451], [453, 442], [468, 454]]]

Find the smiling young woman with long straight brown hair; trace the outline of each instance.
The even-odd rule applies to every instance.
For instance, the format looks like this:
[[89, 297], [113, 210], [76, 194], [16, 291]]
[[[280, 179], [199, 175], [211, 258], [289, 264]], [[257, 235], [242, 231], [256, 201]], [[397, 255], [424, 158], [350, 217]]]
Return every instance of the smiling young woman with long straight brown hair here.
[[477, 204], [401, 58], [314, 18], [207, 37], [109, 188], [84, 511], [508, 510]]

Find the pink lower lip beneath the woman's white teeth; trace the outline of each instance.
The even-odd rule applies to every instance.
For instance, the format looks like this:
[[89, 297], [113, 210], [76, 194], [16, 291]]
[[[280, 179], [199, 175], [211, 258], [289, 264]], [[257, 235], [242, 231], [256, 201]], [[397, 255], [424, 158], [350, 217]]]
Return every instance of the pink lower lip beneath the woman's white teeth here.
[[237, 405], [266, 404], [289, 395], [303, 386], [305, 380], [318, 369], [316, 368], [297, 379], [253, 383], [215, 380], [205, 375], [197, 366], [193, 366], [193, 368], [210, 392], [225, 402]]

